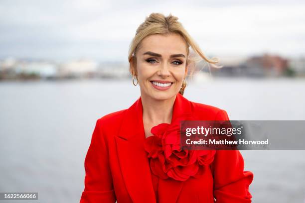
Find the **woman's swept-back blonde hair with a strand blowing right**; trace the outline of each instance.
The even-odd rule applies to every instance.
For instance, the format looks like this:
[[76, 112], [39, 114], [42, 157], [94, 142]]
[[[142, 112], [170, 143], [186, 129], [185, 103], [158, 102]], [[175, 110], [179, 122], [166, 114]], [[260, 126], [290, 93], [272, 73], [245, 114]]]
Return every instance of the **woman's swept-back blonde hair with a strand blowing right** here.
[[[204, 59], [206, 62], [211, 64], [216, 64], [219, 62], [218, 58], [213, 57], [212, 59], [208, 59], [203, 52], [201, 51], [200, 47], [197, 45], [197, 43], [192, 39], [192, 37], [188, 34], [188, 32], [184, 29], [182, 24], [178, 21], [178, 17], [171, 15], [171, 13], [168, 16], [164, 16], [162, 13], [151, 13], [150, 16], [146, 17], [146, 20], [138, 27], [136, 31], [136, 35], [133, 38], [129, 54], [128, 54], [128, 61], [130, 63], [130, 73], [134, 76], [134, 72], [136, 70], [133, 70], [133, 67], [136, 67], [137, 64], [137, 57], [136, 52], [139, 48], [142, 40], [152, 34], [170, 34], [170, 33], [176, 33], [183, 37], [187, 44], [187, 56], [189, 56], [190, 51], [189, 47], [193, 49], [193, 51], [199, 55], [202, 59]], [[132, 64], [133, 63], [133, 64]], [[186, 60], [186, 66], [189, 63], [194, 63], [189, 57], [187, 57]], [[132, 66], [133, 65], [133, 66]], [[136, 75], [136, 74], [135, 74]], [[184, 89], [186, 87], [186, 82], [183, 80], [182, 87], [179, 91], [181, 95], [184, 93]]]

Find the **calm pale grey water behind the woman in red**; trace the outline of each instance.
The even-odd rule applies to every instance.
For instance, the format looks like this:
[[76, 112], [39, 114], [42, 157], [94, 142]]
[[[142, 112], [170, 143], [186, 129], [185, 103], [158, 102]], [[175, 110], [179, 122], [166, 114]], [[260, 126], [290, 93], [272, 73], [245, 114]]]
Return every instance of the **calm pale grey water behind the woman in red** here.
[[[305, 120], [304, 89], [305, 80], [217, 79], [189, 82], [184, 97], [223, 108], [231, 120]], [[96, 120], [139, 97], [131, 80], [1, 82], [0, 192], [79, 202]], [[254, 173], [254, 203], [305, 202], [305, 151], [241, 153]]]

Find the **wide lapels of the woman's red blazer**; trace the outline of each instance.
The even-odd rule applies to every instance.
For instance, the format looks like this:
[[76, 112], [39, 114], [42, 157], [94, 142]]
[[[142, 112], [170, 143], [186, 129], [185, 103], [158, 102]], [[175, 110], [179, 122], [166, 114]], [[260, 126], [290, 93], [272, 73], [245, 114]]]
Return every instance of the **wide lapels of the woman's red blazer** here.
[[[171, 121], [191, 114], [191, 104], [177, 94]], [[128, 193], [134, 203], [156, 203], [147, 153], [144, 149], [145, 131], [141, 97], [124, 115], [119, 134], [115, 137], [119, 163]], [[159, 188], [166, 188], [166, 202], [176, 202], [183, 182], [173, 179], [159, 180]], [[162, 193], [162, 191], [159, 191]]]

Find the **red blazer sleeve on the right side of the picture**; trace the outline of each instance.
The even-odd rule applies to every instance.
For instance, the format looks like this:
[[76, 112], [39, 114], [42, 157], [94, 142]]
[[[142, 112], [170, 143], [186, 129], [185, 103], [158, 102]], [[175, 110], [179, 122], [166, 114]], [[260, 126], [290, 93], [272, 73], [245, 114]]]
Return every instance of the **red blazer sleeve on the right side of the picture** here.
[[[215, 120], [229, 120], [227, 112], [220, 110]], [[210, 167], [216, 203], [251, 203], [253, 173], [244, 171], [244, 159], [238, 150], [217, 150]]]

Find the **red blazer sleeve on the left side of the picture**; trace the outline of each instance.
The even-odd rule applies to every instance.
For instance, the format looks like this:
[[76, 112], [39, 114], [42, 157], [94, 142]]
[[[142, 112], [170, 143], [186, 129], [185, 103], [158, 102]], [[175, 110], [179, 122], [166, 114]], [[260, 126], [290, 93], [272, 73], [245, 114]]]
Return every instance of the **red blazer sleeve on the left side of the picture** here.
[[115, 203], [108, 148], [103, 136], [101, 118], [96, 121], [85, 158], [85, 189], [80, 203]]

